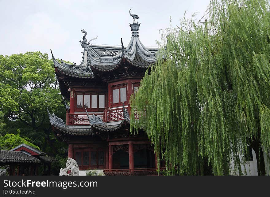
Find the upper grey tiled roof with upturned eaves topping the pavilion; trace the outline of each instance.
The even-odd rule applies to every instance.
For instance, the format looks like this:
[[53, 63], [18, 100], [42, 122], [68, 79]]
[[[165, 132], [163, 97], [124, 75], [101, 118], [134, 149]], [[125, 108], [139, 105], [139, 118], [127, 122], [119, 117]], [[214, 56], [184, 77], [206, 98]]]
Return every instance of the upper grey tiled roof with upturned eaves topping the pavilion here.
[[[94, 71], [110, 72], [118, 69], [120, 65], [129, 62], [129, 66], [138, 68], [147, 68], [149, 65], [154, 64], [158, 57], [162, 54], [159, 53], [159, 48], [146, 48], [140, 41], [138, 30], [140, 24], [130, 24], [132, 37], [128, 46], [124, 47], [122, 38], [121, 46], [95, 46], [90, 45], [85, 41], [80, 41], [83, 51], [87, 51], [87, 62], [83, 61], [80, 65], [69, 65], [63, 61], [58, 62], [52, 54], [54, 67], [56, 70], [66, 76], [75, 78], [94, 78]], [[87, 65], [85, 65], [87, 63]]]

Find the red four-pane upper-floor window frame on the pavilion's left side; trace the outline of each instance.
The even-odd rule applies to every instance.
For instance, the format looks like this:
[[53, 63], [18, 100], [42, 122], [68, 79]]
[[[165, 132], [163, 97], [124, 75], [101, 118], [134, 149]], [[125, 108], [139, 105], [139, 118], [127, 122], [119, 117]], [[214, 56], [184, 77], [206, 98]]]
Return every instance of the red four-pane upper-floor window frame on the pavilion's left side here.
[[[82, 108], [77, 108], [77, 95], [83, 95], [83, 107]], [[87, 111], [91, 112], [97, 112], [97, 111], [104, 111], [106, 107], [106, 94], [105, 93], [98, 93], [98, 92], [78, 92], [75, 93], [75, 111], [85, 111], [84, 107], [84, 96], [85, 95], [90, 95], [90, 108], [86, 108]], [[92, 108], [92, 95], [97, 95], [97, 107]], [[99, 107], [99, 95], [104, 96], [104, 107]]]

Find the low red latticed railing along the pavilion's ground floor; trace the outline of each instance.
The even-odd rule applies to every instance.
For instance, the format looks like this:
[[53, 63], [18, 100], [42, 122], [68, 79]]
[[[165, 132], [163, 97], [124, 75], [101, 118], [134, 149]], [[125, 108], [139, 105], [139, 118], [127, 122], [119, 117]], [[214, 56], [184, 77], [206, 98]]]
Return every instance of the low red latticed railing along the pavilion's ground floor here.
[[[160, 168], [162, 172], [165, 168]], [[103, 169], [103, 173], [107, 176], [143, 176], [158, 175], [157, 168], [134, 168], [134, 169]], [[160, 173], [159, 175], [161, 175]]]

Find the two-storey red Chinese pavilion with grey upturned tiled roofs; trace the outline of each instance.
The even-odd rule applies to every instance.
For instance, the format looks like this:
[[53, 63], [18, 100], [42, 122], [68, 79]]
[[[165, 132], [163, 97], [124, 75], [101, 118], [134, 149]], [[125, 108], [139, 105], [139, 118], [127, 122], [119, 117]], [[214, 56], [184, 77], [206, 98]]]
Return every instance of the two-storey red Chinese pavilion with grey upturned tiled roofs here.
[[83, 29], [80, 65], [59, 62], [52, 54], [61, 94], [70, 105], [65, 102], [66, 123], [47, 109], [49, 120], [58, 139], [68, 144], [68, 157], [77, 161], [80, 174], [89, 169], [105, 175], [157, 174], [148, 137], [143, 131], [129, 132], [129, 98], [149, 65], [156, 62], [159, 48], [141, 43], [140, 24], [133, 20], [130, 27], [126, 47], [122, 38], [119, 47], [91, 45]]

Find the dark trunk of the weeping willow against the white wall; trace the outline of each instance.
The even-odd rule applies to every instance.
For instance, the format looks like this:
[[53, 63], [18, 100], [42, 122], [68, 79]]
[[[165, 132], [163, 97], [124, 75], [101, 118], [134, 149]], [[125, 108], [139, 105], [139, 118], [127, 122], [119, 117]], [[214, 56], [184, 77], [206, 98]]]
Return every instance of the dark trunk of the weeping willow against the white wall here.
[[265, 165], [264, 165], [264, 155], [263, 155], [263, 150], [260, 146], [260, 142], [253, 141], [250, 145], [256, 154], [258, 175], [265, 176], [266, 173], [265, 173]]

